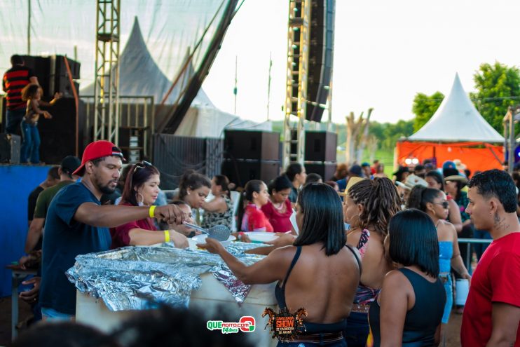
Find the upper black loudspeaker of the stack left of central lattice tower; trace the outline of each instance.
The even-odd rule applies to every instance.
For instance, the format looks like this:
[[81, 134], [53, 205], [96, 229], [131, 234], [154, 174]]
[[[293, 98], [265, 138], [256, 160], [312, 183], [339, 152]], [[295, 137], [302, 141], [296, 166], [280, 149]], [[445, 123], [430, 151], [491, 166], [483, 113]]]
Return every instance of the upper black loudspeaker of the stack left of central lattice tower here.
[[279, 132], [247, 130], [224, 132], [224, 158], [278, 161], [279, 147]]

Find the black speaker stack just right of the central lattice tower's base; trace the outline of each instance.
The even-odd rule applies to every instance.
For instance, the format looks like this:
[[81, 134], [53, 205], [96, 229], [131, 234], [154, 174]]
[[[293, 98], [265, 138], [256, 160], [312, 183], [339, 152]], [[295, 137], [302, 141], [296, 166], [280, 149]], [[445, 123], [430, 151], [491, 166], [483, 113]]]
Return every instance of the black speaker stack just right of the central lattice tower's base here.
[[336, 171], [336, 147], [338, 135], [334, 132], [306, 131], [305, 168], [307, 173], [317, 173], [327, 181]]

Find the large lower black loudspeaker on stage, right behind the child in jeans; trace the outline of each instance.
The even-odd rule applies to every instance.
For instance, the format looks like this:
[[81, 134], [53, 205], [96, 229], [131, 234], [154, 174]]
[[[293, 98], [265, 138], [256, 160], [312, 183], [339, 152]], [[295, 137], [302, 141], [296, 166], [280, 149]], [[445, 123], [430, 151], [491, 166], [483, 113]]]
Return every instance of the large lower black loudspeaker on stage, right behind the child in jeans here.
[[[76, 155], [76, 104], [74, 99], [58, 100], [47, 109], [52, 119], [39, 118], [40, 158], [48, 164], [59, 164], [65, 156]], [[83, 126], [85, 119], [78, 119], [78, 156], [83, 153]]]

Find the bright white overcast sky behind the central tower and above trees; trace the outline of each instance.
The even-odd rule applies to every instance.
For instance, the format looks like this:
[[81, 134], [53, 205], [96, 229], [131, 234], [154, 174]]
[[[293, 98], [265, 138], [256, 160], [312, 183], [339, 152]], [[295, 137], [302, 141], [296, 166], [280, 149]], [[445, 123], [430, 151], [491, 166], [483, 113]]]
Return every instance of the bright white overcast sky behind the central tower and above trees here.
[[[265, 121], [269, 54], [271, 119], [282, 119], [288, 1], [245, 0], [203, 85], [217, 107]], [[469, 93], [483, 62], [520, 66], [520, 1], [336, 0], [333, 121], [374, 107], [376, 121], [413, 118], [416, 93], [449, 93], [458, 72]]]

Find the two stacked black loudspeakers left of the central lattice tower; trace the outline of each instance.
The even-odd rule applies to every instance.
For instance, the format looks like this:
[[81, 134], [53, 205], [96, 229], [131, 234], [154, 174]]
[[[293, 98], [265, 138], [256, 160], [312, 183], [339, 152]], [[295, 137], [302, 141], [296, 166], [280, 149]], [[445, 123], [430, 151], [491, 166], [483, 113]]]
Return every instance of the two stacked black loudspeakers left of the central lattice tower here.
[[251, 179], [268, 183], [280, 173], [280, 133], [226, 130], [221, 172], [237, 186]]

